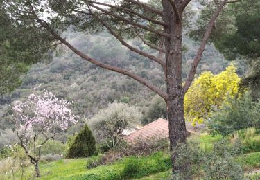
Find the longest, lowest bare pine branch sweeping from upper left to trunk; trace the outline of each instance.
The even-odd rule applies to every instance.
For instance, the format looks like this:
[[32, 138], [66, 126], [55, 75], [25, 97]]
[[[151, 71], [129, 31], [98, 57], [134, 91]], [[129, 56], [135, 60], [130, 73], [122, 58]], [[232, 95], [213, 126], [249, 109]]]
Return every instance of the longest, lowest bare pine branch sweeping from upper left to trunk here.
[[141, 78], [138, 75], [135, 75], [134, 73], [131, 73], [130, 71], [128, 71], [126, 69], [122, 69], [122, 68], [119, 68], [119, 67], [116, 67], [116, 66], [111, 66], [110, 64], [105, 64], [103, 62], [99, 62], [98, 60], [95, 60], [95, 59], [85, 55], [84, 53], [79, 51], [77, 48], [75, 48], [74, 46], [69, 44], [69, 42], [67, 42], [66, 39], [60, 37], [60, 35], [58, 35], [58, 33], [55, 33], [55, 31], [49, 26], [49, 24], [47, 24], [46, 21], [44, 21], [42, 19], [39, 19], [39, 17], [37, 17], [37, 15], [36, 15], [36, 13], [35, 13], [35, 11], [33, 9], [33, 6], [31, 6], [31, 10], [33, 12], [33, 15], [34, 15], [35, 19], [37, 20], [37, 22], [39, 24], [41, 24], [44, 28], [46, 28], [46, 30], [48, 30], [49, 33], [51, 33], [51, 35], [53, 35], [53, 37], [55, 37], [56, 39], [60, 40], [60, 42], [62, 42], [65, 46], [70, 48], [71, 51], [76, 53], [78, 56], [82, 57], [84, 60], [87, 60], [88, 62], [91, 62], [92, 64], [95, 64], [96, 66], [99, 66], [99, 67], [101, 67], [103, 69], [107, 69], [107, 70], [110, 70], [110, 71], [121, 73], [123, 75], [127, 75], [128, 77], [130, 77], [130, 78], [132, 78], [134, 80], [137, 80], [141, 84], [144, 84], [144, 86], [148, 87], [150, 90], [154, 91], [155, 93], [157, 93], [159, 96], [161, 96], [165, 100], [168, 98], [167, 93], [162, 91], [162, 89], [159, 89], [158, 87], [155, 87], [153, 84], [148, 82], [146, 79]]

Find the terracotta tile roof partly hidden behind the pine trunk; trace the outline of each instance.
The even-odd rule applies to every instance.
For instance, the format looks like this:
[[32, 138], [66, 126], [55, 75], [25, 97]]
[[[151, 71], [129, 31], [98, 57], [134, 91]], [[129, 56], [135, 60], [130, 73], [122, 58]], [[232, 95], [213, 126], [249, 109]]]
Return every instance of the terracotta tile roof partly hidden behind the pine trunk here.
[[131, 143], [138, 139], [145, 140], [147, 138], [160, 137], [168, 138], [168, 121], [159, 118], [144, 127], [141, 127], [136, 132], [125, 136], [125, 141]]

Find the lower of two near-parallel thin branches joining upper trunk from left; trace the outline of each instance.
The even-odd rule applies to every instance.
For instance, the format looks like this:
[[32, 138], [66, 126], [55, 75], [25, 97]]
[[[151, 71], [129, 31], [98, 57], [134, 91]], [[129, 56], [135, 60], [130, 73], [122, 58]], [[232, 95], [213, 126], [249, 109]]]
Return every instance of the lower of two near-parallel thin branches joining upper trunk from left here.
[[107, 15], [112, 15], [113, 17], [116, 17], [117, 19], [125, 21], [125, 23], [131, 24], [132, 26], [135, 26], [135, 27], [138, 27], [138, 28], [142, 28], [144, 30], [148, 30], [148, 31], [150, 31], [152, 33], [155, 33], [157, 35], [163, 35], [164, 37], [170, 37], [170, 35], [168, 35], [167, 33], [163, 33], [163, 32], [161, 32], [159, 30], [154, 30], [153, 28], [149, 28], [148, 26], [144, 26], [144, 25], [138, 24], [138, 23], [136, 23], [134, 21], [131, 21], [129, 19], [125, 19], [125, 18], [123, 18], [123, 17], [121, 17], [119, 15], [114, 14], [111, 11], [104, 10], [103, 8], [100, 8], [100, 7], [95, 6], [93, 4], [89, 4], [89, 6], [92, 6], [93, 8], [96, 8], [97, 10], [100, 10], [101, 12], [104, 12]]

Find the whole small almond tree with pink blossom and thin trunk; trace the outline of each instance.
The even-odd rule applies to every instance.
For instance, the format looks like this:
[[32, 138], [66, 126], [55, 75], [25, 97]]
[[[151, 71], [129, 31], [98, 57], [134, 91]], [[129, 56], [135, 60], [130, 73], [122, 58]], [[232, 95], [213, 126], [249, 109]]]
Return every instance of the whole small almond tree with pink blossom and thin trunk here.
[[16, 101], [12, 107], [19, 143], [35, 166], [36, 177], [40, 177], [42, 145], [55, 136], [56, 129], [63, 131], [70, 123], [77, 123], [78, 116], [71, 114], [69, 105], [67, 100], [35, 87], [26, 100]]

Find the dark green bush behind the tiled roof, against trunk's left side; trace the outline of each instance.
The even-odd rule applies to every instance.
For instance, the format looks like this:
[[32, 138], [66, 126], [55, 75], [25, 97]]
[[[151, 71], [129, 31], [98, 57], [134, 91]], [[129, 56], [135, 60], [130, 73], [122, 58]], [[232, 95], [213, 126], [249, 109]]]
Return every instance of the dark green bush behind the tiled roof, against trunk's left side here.
[[157, 120], [158, 118], [166, 118], [166, 102], [159, 96], [154, 96], [148, 106], [148, 109], [144, 112], [144, 116], [141, 118], [141, 123], [147, 125], [148, 123]]

